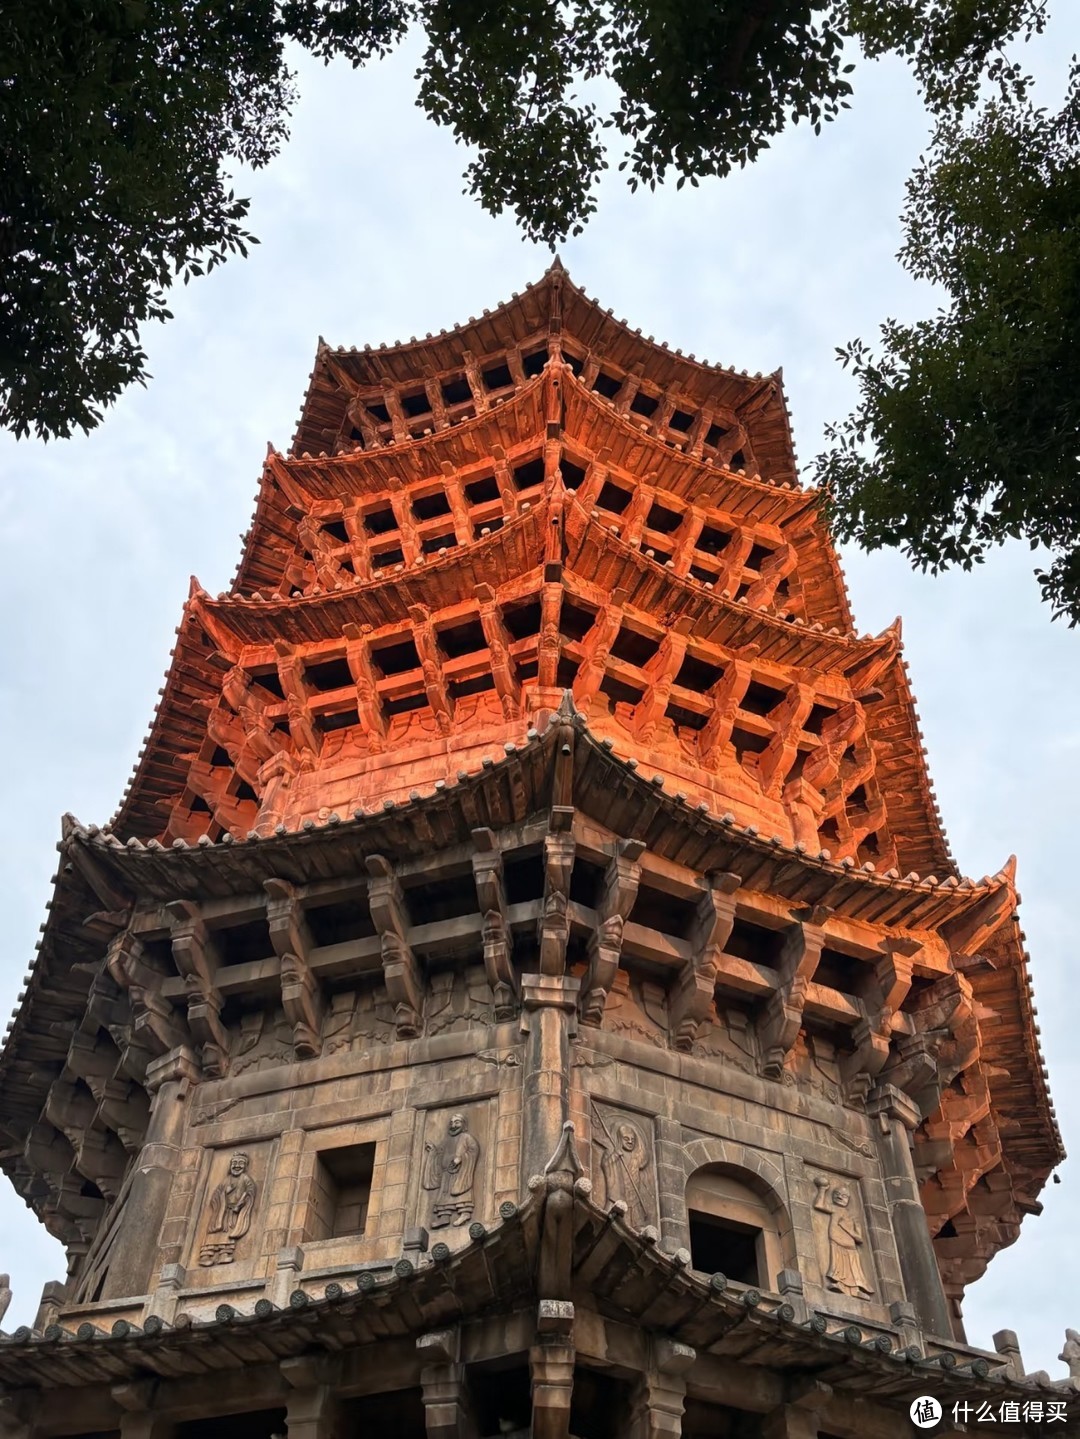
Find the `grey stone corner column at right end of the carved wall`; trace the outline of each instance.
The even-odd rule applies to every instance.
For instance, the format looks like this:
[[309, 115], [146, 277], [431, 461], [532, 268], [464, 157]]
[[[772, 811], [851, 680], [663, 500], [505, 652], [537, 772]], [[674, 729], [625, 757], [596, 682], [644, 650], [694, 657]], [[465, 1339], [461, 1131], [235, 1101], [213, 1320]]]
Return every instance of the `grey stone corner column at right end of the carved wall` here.
[[926, 1212], [919, 1200], [912, 1157], [910, 1134], [922, 1115], [917, 1105], [893, 1085], [879, 1085], [867, 1099], [866, 1108], [867, 1114], [877, 1115], [879, 1121], [877, 1150], [907, 1298], [928, 1334], [951, 1340], [949, 1305], [930, 1230], [926, 1226]]

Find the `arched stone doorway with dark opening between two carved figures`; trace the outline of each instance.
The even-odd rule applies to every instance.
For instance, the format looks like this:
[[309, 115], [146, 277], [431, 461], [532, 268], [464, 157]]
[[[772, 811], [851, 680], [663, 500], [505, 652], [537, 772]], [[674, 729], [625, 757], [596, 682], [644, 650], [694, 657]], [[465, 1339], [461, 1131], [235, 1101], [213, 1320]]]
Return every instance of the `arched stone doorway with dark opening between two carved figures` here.
[[781, 1269], [797, 1268], [779, 1166], [723, 1140], [697, 1140], [682, 1158], [693, 1268], [775, 1292]]

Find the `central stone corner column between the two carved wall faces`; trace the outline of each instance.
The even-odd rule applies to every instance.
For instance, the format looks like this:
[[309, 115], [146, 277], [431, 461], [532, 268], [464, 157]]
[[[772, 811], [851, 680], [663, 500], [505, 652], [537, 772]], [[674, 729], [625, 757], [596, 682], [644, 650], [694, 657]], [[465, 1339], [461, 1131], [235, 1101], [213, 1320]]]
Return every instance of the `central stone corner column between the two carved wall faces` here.
[[525, 1043], [522, 1191], [559, 1145], [569, 1112], [569, 1042], [577, 1033], [578, 990], [569, 974], [522, 976]]

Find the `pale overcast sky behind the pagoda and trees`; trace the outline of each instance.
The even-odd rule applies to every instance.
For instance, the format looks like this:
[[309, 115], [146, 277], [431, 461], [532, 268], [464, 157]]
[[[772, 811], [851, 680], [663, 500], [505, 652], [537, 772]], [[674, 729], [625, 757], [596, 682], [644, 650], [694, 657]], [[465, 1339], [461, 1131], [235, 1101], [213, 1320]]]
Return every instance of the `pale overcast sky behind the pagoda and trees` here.
[[[1030, 49], [1057, 104], [1080, 7], [1056, 0]], [[1066, 12], [1070, 14], [1066, 17]], [[14, 1003], [45, 918], [59, 817], [114, 813], [145, 737], [174, 626], [197, 574], [232, 580], [266, 440], [285, 449], [316, 337], [406, 340], [450, 327], [536, 279], [549, 255], [462, 194], [465, 153], [413, 108], [416, 52], [368, 73], [305, 65], [293, 135], [244, 178], [262, 245], [174, 295], [145, 335], [154, 380], [92, 436], [0, 440], [0, 671], [4, 787], [0, 1012]], [[903, 183], [926, 138], [900, 65], [861, 65], [854, 106], [815, 138], [782, 137], [749, 171], [631, 196], [608, 177], [600, 214], [562, 249], [574, 281], [644, 334], [746, 370], [784, 367], [805, 462], [850, 407], [834, 348], [915, 318], [932, 295], [894, 253]], [[981, 571], [930, 578], [893, 555], [844, 555], [860, 630], [903, 614], [941, 809], [964, 873], [1020, 858], [1022, 920], [1066, 1147], [1080, 1150], [1074, 951], [1080, 809], [1080, 633], [1051, 625], [1017, 547]], [[1071, 1042], [1070, 1042], [1071, 1040]], [[1080, 1325], [1076, 1161], [1045, 1212], [969, 1291], [968, 1334], [1020, 1333], [1028, 1368], [1064, 1376]], [[63, 1256], [0, 1186], [0, 1269], [29, 1324]]]

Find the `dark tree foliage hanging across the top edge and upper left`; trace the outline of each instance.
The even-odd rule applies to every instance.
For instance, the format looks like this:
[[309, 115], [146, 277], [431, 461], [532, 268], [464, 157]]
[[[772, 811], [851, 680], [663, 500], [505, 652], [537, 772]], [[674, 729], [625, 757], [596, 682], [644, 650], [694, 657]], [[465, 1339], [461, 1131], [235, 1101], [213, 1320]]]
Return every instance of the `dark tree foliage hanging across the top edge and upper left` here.
[[697, 183], [836, 117], [853, 40], [956, 112], [1040, 23], [1041, 0], [4, 0], [0, 426], [91, 429], [145, 378], [170, 285], [253, 242], [229, 176], [285, 141], [289, 45], [360, 66], [421, 32], [418, 104], [472, 148], [467, 187], [554, 243], [608, 138], [631, 186]]

